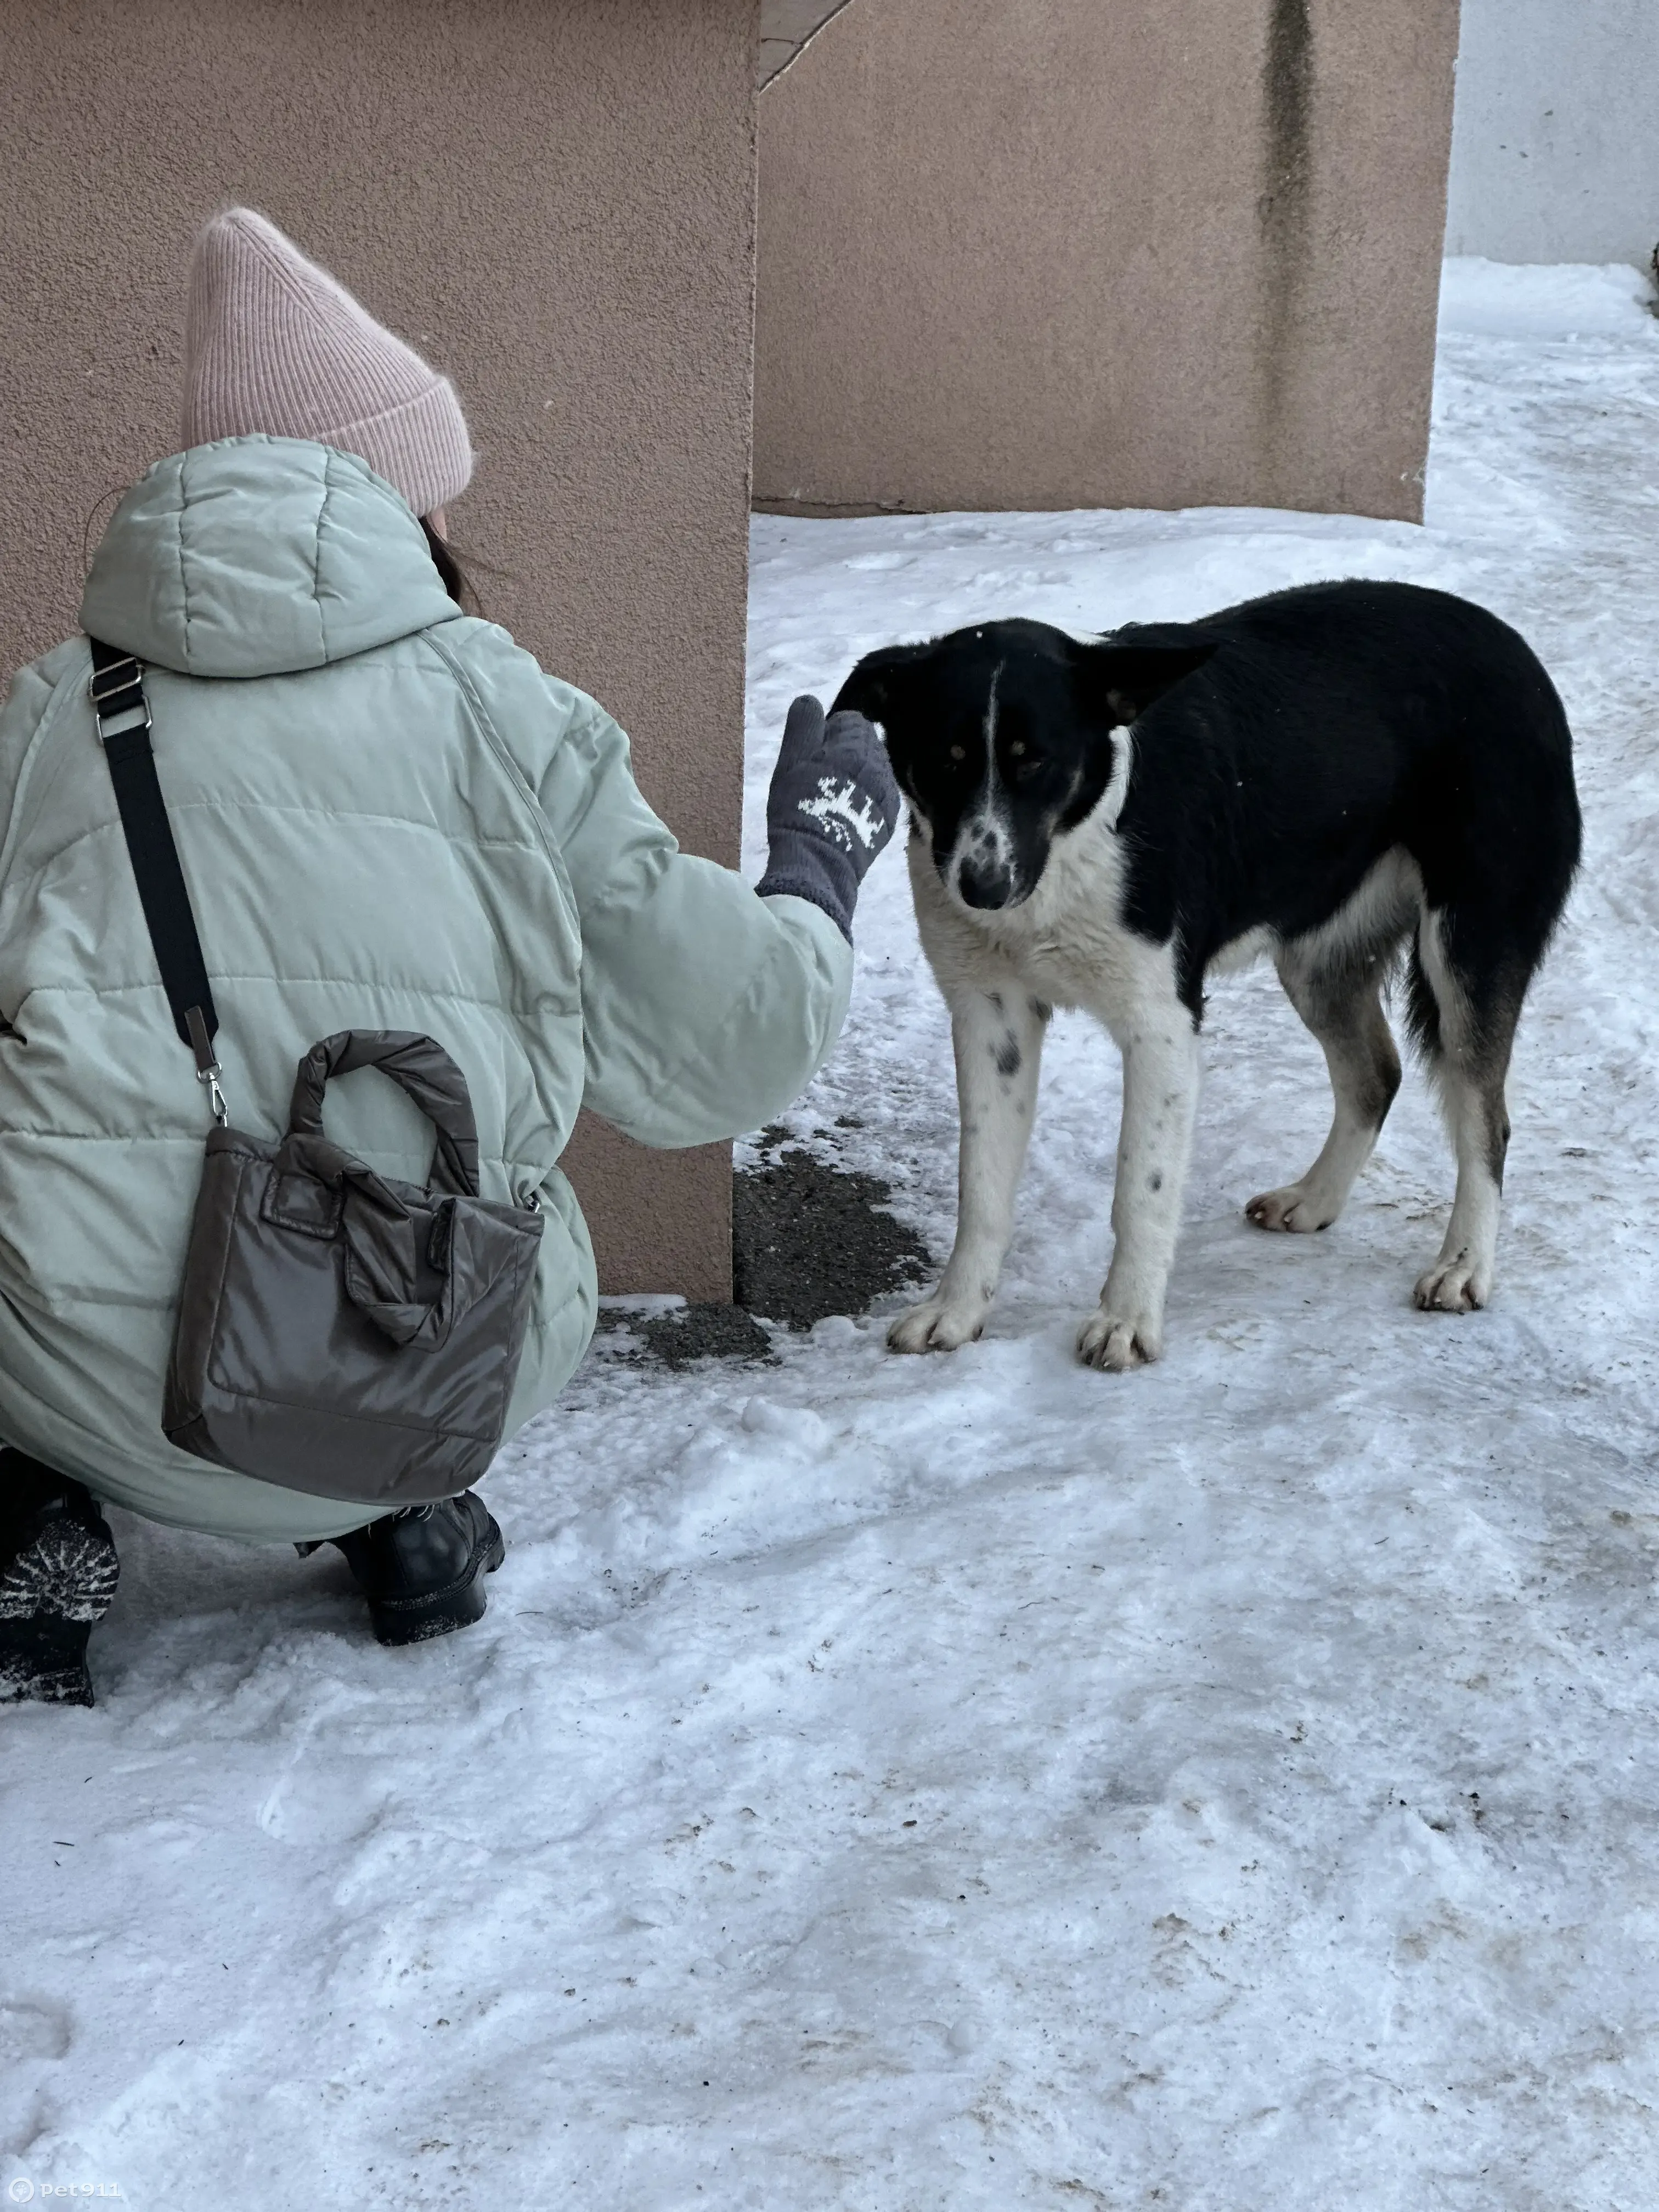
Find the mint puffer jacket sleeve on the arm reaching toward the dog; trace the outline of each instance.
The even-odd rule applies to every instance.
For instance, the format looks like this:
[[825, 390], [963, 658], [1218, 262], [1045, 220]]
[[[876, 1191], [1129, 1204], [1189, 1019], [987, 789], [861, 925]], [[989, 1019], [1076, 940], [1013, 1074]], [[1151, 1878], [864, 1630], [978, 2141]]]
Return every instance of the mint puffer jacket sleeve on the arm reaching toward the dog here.
[[759, 898], [681, 854], [639, 796], [628, 739], [582, 695], [538, 796], [582, 920], [584, 1104], [650, 1146], [759, 1128], [841, 1035], [845, 938], [807, 900]]

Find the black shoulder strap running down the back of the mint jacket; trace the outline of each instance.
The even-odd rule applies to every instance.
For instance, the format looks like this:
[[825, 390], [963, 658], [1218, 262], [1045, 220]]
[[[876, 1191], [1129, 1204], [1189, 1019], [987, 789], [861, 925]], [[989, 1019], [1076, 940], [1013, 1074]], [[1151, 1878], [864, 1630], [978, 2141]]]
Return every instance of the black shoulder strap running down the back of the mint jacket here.
[[122, 810], [126, 852], [150, 929], [155, 964], [161, 969], [168, 1006], [173, 1006], [173, 1026], [195, 1053], [197, 1082], [208, 1086], [212, 1117], [226, 1124], [226, 1097], [219, 1088], [219, 1062], [212, 1051], [219, 1013], [212, 1004], [208, 964], [201, 958], [197, 918], [190, 911], [190, 891], [179, 867], [179, 847], [173, 843], [166, 799], [161, 799], [155, 774], [144, 664], [131, 653], [106, 646], [100, 637], [88, 639], [88, 644], [93, 648], [91, 692], [97, 737], [115, 785], [115, 803]]

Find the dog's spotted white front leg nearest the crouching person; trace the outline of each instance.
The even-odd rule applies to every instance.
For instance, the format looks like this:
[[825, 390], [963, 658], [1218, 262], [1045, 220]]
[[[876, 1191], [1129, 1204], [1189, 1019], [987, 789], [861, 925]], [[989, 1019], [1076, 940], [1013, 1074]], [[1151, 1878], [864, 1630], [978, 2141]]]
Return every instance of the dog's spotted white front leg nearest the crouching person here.
[[1015, 982], [951, 995], [962, 1119], [956, 1245], [938, 1290], [887, 1332], [894, 1352], [956, 1352], [984, 1327], [1013, 1237], [1048, 1009]]

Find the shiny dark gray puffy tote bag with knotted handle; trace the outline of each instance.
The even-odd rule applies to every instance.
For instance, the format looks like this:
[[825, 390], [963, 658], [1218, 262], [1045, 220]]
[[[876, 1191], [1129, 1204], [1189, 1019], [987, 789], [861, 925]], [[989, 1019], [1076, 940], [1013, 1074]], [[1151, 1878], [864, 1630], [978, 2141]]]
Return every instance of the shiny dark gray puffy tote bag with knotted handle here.
[[[323, 1135], [323, 1088], [352, 1068], [380, 1068], [438, 1126], [425, 1186]], [[540, 1239], [540, 1212], [478, 1197], [467, 1082], [440, 1044], [323, 1037], [279, 1144], [208, 1137], [161, 1427], [319, 1498], [453, 1498], [502, 1440]]]

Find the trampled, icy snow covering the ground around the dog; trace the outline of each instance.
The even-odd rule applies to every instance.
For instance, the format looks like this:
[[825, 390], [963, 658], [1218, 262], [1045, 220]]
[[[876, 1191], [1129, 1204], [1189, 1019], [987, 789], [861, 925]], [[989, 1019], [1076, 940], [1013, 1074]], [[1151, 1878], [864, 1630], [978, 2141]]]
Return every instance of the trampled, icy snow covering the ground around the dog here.
[[[1586, 865], [1511, 1082], [1500, 1285], [1409, 1307], [1407, 1077], [1270, 1239], [1325, 1073], [1214, 989], [1164, 1365], [1082, 1371], [1115, 1053], [1062, 1018], [980, 1345], [588, 1360], [504, 1455], [484, 1624], [122, 1517], [95, 1712], [0, 1714], [0, 2185], [150, 2208], [1646, 2212], [1659, 2199], [1659, 323], [1453, 265], [1429, 526], [754, 526], [750, 863], [794, 690], [975, 615], [1396, 575], [1515, 622]], [[898, 852], [792, 1117], [949, 1245]], [[852, 1124], [852, 1126], [843, 1126]], [[13, 2194], [22, 2194], [13, 2190]]]

